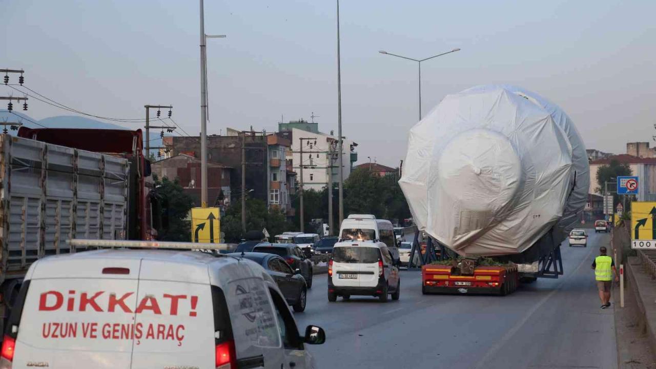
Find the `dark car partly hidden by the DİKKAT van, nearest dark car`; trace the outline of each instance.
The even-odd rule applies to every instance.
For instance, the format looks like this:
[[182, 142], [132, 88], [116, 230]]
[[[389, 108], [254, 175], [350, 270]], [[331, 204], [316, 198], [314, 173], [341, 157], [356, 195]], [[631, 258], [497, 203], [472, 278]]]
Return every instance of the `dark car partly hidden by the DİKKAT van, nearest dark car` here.
[[300, 313], [305, 310], [305, 304], [308, 299], [308, 290], [305, 278], [300, 274], [300, 270], [293, 271], [285, 259], [274, 253], [245, 252], [231, 253], [230, 256], [244, 257], [262, 265], [266, 272], [274, 278], [278, 288], [283, 293], [287, 303], [294, 308], [294, 311]]

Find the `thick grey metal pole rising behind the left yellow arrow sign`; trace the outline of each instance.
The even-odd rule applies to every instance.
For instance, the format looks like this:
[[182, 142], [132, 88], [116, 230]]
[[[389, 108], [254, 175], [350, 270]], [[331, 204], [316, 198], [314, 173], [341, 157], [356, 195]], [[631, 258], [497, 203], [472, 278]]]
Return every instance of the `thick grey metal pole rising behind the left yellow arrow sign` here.
[[[206, 63], [205, 15], [203, 11], [203, 0], [200, 0], [200, 13], [201, 13], [201, 206], [207, 207], [207, 68], [205, 66]], [[242, 188], [242, 192], [243, 192], [243, 188]], [[242, 218], [243, 217], [244, 215], [242, 215]], [[243, 221], [243, 227], [246, 227], [245, 221]]]

